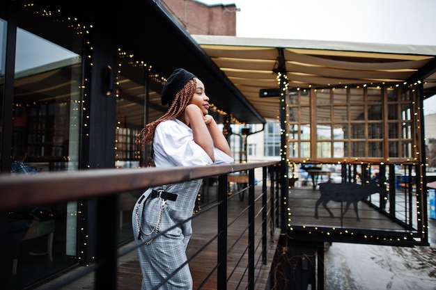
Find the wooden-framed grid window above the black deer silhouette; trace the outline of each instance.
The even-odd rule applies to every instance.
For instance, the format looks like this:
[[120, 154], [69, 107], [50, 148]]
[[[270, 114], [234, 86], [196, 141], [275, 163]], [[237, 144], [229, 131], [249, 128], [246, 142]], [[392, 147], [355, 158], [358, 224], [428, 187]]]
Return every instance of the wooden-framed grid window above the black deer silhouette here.
[[[317, 142], [334, 140], [335, 144], [329, 150], [335, 158], [387, 158], [389, 154], [399, 154], [389, 158], [412, 158], [409, 143], [414, 142], [415, 113], [412, 98], [416, 98], [414, 88], [323, 88], [310, 91], [316, 94], [316, 104], [309, 106], [298, 103], [297, 95], [293, 96], [289, 118], [289, 142], [293, 148], [299, 148], [298, 157], [309, 156], [309, 151], [302, 148], [302, 140], [311, 141], [310, 126], [316, 126]], [[384, 95], [388, 99], [384, 100]], [[312, 96], [309, 95], [309, 99]], [[385, 115], [384, 112], [387, 112]], [[313, 118], [315, 117], [315, 118]], [[315, 123], [313, 122], [315, 121]], [[295, 129], [297, 128], [297, 129]], [[293, 134], [301, 129], [301, 134]], [[385, 132], [388, 130], [387, 132]], [[391, 140], [396, 139], [396, 140]], [[391, 142], [393, 141], [393, 142]], [[400, 143], [396, 144], [396, 141]], [[322, 152], [325, 144], [317, 145], [317, 156], [312, 159], [328, 156]], [[341, 148], [341, 149], [339, 149]], [[389, 150], [388, 150], [389, 148]], [[304, 153], [303, 153], [304, 152]], [[321, 154], [318, 154], [318, 152]], [[292, 156], [290, 154], [290, 156]], [[295, 156], [295, 155], [293, 155]]]

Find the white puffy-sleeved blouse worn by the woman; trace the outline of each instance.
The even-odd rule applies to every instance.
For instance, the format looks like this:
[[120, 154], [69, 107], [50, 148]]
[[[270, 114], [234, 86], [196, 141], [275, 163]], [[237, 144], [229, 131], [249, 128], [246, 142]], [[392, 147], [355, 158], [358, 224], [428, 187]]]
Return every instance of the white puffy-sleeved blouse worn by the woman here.
[[205, 166], [231, 164], [233, 158], [214, 147], [215, 162], [194, 142], [192, 129], [178, 119], [157, 125], [153, 138], [155, 166]]

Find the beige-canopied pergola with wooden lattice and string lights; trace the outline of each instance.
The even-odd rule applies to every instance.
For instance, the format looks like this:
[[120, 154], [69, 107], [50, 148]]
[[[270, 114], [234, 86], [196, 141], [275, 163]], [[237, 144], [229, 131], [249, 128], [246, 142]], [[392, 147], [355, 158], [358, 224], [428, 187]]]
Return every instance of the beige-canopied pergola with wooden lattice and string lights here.
[[[407, 234], [350, 225], [361, 229], [353, 241], [427, 243], [423, 99], [436, 92], [436, 47], [193, 38], [260, 115], [280, 120], [283, 177], [304, 168], [315, 189], [317, 178], [331, 175], [327, 168], [338, 168], [345, 183], [364, 185], [383, 176], [377, 182], [389, 188], [389, 198], [380, 194], [368, 204], [403, 224]], [[310, 166], [316, 169], [309, 171]], [[288, 188], [288, 179], [281, 186]], [[403, 190], [407, 209], [400, 217]], [[283, 199], [292, 200], [292, 191], [287, 192], [282, 191]], [[288, 210], [297, 220], [289, 218], [288, 227], [297, 236], [302, 233], [301, 239], [317, 233], [321, 240], [350, 241], [343, 232], [334, 234], [343, 224], [309, 222], [298, 210]]]

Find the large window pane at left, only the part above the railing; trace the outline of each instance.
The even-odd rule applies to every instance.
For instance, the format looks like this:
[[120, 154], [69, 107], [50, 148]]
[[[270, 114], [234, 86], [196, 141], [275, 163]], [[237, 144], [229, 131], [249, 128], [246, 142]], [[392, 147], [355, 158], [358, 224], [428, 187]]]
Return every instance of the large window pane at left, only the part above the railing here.
[[17, 31], [12, 156], [26, 153], [38, 171], [78, 169], [80, 75], [78, 54]]

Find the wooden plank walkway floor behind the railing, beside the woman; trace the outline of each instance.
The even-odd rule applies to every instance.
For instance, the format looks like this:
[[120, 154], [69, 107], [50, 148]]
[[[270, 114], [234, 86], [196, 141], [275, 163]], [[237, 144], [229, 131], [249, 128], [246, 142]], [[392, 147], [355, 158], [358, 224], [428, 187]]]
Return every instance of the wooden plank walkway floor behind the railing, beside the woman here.
[[[256, 186], [256, 195], [261, 191], [261, 186]], [[244, 208], [247, 207], [247, 193], [244, 195], [244, 200], [240, 200], [238, 196], [234, 196], [228, 202], [228, 224], [232, 223], [230, 227], [228, 227], [228, 236], [231, 240], [238, 240], [238, 243], [233, 245], [228, 245], [228, 275], [231, 275], [231, 280], [235, 282], [229, 282], [227, 289], [246, 289], [247, 286], [247, 273], [245, 271], [245, 267], [247, 265], [247, 257], [248, 254], [243, 255], [242, 260], [240, 261], [240, 257], [246, 251], [247, 243], [248, 243], [248, 234], [245, 231], [245, 227], [248, 226], [248, 218], [247, 215], [244, 214], [240, 217], [238, 222], [233, 223], [233, 219], [236, 218], [240, 214]], [[208, 201], [212, 202], [215, 200], [215, 196], [213, 193], [208, 197]], [[260, 202], [256, 202], [256, 214], [260, 209]], [[207, 207], [205, 205], [204, 207]], [[213, 236], [217, 234], [217, 209], [213, 209], [206, 214], [202, 214], [201, 218], [194, 218], [192, 220], [193, 227], [193, 236], [189, 241], [189, 245], [187, 248], [187, 256], [192, 257], [194, 253], [202, 248]], [[256, 257], [260, 255], [258, 252], [260, 251], [260, 246], [258, 247], [258, 243], [260, 241], [261, 231], [258, 230], [260, 227], [260, 216], [256, 218], [256, 239], [255, 239], [255, 248]], [[278, 239], [279, 231], [276, 231], [276, 238]], [[133, 243], [127, 244], [126, 247], [132, 246]], [[255, 261], [257, 264], [257, 268], [261, 268], [260, 274], [256, 274], [256, 283], [255, 289], [265, 289], [265, 284], [267, 283], [268, 273], [270, 270], [271, 262], [274, 257], [274, 251], [276, 248], [276, 244], [274, 241], [270, 241], [268, 239], [268, 256], [267, 256], [267, 265], [262, 265], [260, 261]], [[203, 290], [212, 290], [217, 289], [217, 275], [216, 273], [212, 273], [210, 275], [212, 268], [217, 264], [217, 243], [212, 242], [208, 245], [201, 254], [194, 257], [192, 261], [189, 262], [189, 267], [191, 268], [192, 277], [194, 280], [194, 289]], [[74, 272], [74, 271], [72, 271]], [[215, 271], [216, 272], [216, 271]], [[256, 269], [257, 272], [257, 269]], [[232, 273], [232, 274], [231, 274]], [[70, 273], [65, 274], [59, 279], [68, 277], [71, 275]], [[203, 282], [205, 278], [210, 275], [207, 282]], [[137, 259], [136, 250], [127, 253], [123, 257], [120, 257], [118, 261], [118, 286], [119, 290], [132, 290], [132, 289], [141, 289], [141, 269], [139, 268], [139, 261]], [[55, 283], [56, 280], [45, 284], [45, 286], [40, 287], [38, 289], [45, 289], [50, 284]], [[94, 287], [94, 277], [93, 273], [86, 275], [85, 277], [81, 277], [68, 284], [67, 287], [63, 287], [64, 290], [79, 290], [79, 289], [93, 289]]]

